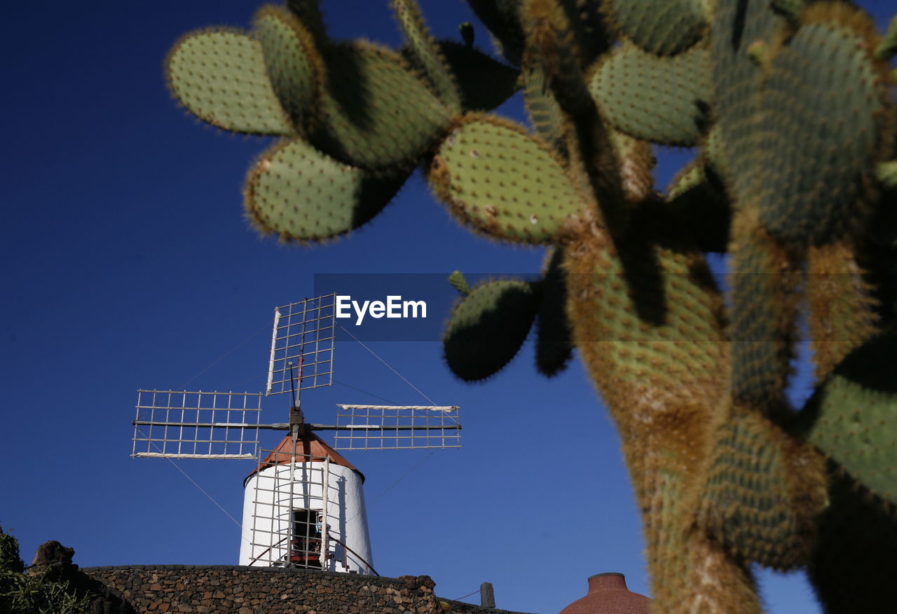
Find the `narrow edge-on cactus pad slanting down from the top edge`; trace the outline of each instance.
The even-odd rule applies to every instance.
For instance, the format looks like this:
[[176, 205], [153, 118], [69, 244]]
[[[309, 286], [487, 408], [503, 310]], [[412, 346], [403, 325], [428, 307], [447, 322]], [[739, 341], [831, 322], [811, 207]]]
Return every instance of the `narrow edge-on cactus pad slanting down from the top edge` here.
[[423, 74], [448, 110], [457, 113], [461, 110], [461, 95], [455, 77], [449, 70], [439, 45], [423, 22], [421, 7], [416, 0], [391, 0], [390, 4], [396, 13], [399, 27], [405, 34], [405, 40], [412, 49], [415, 64], [423, 68]]

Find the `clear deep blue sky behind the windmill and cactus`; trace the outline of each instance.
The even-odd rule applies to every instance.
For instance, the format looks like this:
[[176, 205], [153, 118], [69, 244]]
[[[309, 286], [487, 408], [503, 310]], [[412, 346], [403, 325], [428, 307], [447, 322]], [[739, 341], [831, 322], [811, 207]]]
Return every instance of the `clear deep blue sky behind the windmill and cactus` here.
[[[881, 26], [894, 8], [859, 4]], [[385, 0], [324, 7], [336, 37], [398, 42]], [[422, 7], [440, 36], [474, 21], [460, 0]], [[0, 523], [26, 562], [58, 539], [80, 566], [236, 564], [239, 528], [222, 510], [168, 461], [129, 458], [135, 390], [261, 390], [274, 305], [310, 296], [315, 273], [539, 268], [539, 250], [461, 229], [419, 174], [349, 239], [314, 249], [260, 240], [240, 189], [266, 139], [185, 117], [161, 68], [180, 34], [246, 26], [256, 8], [156, 0], [4, 10]], [[519, 105], [507, 112], [517, 117]], [[686, 157], [662, 156], [661, 185]], [[448, 598], [490, 581], [499, 607], [545, 614], [601, 572], [649, 593], [617, 435], [579, 364], [547, 381], [527, 344], [506, 371], [471, 386], [448, 373], [438, 343], [370, 347], [437, 403], [461, 406], [464, 424], [460, 451], [349, 455], [367, 476], [381, 574], [431, 575]], [[337, 402], [426, 402], [354, 343], [338, 344], [335, 378], [303, 396], [310, 419], [329, 421]], [[266, 420], [283, 420], [284, 399], [264, 407]], [[251, 463], [179, 466], [239, 520]], [[770, 611], [818, 611], [803, 575], [761, 578]]]

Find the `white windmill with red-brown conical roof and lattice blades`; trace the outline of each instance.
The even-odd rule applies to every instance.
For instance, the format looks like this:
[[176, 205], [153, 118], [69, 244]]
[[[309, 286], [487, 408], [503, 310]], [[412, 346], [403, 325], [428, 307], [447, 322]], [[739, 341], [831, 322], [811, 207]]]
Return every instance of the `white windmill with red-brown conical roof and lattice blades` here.
[[[243, 482], [240, 565], [376, 574], [364, 477], [337, 451], [460, 447], [456, 406], [340, 404], [332, 425], [305, 420], [302, 390], [333, 384], [335, 303], [325, 294], [274, 309], [264, 392], [137, 390], [132, 457], [257, 460]], [[262, 399], [287, 393], [287, 421], [261, 423]], [[263, 449], [266, 430], [286, 434]]]

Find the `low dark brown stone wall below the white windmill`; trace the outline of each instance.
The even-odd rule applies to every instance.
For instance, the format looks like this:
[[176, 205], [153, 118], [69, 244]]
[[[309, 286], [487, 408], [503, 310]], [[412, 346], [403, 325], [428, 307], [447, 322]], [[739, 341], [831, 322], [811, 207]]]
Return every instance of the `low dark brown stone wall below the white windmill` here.
[[136, 565], [85, 567], [138, 612], [171, 614], [519, 614], [437, 597], [429, 576], [315, 569]]

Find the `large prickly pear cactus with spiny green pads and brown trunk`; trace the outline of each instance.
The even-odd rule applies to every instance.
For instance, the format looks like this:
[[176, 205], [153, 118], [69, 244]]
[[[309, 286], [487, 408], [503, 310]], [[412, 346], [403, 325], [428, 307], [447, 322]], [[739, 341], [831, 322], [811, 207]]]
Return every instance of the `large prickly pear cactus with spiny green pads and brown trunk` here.
[[[433, 39], [415, 0], [390, 3], [400, 50], [332, 40], [290, 0], [185, 36], [170, 88], [283, 138], [248, 174], [263, 232], [350, 232], [420, 166], [473, 231], [547, 246], [541, 278], [450, 277], [445, 358], [490, 377], [534, 322], [540, 372], [576, 350], [620, 431], [657, 611], [759, 611], [753, 564], [808, 566], [829, 611], [891, 610], [897, 20], [882, 35], [840, 0], [469, 4], [498, 57], [469, 24]], [[487, 112], [518, 88], [531, 130]], [[698, 148], [666, 194], [651, 144]], [[793, 408], [802, 321], [816, 391]]]

